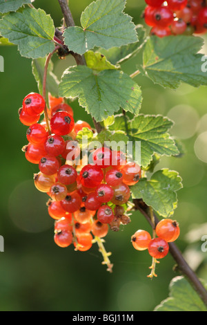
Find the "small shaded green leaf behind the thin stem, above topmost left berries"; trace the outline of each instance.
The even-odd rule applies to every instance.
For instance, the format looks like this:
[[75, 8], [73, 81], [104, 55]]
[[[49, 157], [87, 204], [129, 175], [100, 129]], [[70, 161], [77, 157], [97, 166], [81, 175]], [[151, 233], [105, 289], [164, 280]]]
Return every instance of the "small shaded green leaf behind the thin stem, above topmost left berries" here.
[[[46, 63], [46, 58], [39, 58], [32, 60], [32, 73], [34, 75], [35, 80], [37, 81], [39, 93], [42, 95], [42, 88], [43, 88], [43, 72], [44, 66]], [[54, 73], [52, 73], [53, 64], [50, 61], [48, 66], [48, 74], [47, 74], [47, 83], [46, 83], [46, 92], [51, 93], [52, 96], [58, 97], [58, 85], [59, 81]]]

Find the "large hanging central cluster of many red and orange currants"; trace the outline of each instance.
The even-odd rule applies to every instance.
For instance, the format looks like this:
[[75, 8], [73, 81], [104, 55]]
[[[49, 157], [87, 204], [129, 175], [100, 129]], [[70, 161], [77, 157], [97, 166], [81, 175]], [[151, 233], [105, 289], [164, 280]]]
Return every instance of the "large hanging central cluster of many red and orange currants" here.
[[[60, 247], [73, 243], [76, 250], [86, 251], [93, 236], [102, 238], [109, 228], [118, 231], [121, 224], [130, 222], [125, 205], [130, 198], [129, 186], [139, 181], [141, 168], [127, 163], [123, 152], [108, 147], [92, 151], [91, 164], [69, 162], [68, 154], [77, 156], [74, 145], [78, 131], [91, 127], [87, 122], [75, 123], [63, 98], [50, 95], [49, 106], [50, 110], [46, 109], [37, 93], [23, 99], [19, 119], [29, 126], [29, 143], [23, 151], [30, 163], [39, 165], [34, 185], [50, 197], [47, 205], [55, 219], [55, 243]], [[39, 122], [43, 111], [43, 122]]]

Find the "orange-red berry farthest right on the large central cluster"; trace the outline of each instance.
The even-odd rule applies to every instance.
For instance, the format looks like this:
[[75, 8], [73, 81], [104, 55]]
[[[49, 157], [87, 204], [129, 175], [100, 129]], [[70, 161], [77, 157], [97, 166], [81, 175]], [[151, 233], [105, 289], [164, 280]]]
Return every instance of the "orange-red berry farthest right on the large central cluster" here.
[[123, 183], [126, 185], [135, 185], [141, 178], [141, 168], [136, 163], [128, 163], [121, 169]]

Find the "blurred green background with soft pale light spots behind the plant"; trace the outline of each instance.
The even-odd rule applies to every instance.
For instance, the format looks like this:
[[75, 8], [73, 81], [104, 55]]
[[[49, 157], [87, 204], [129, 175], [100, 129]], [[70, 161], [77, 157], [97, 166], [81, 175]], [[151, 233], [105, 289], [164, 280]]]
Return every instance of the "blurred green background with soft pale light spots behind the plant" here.
[[[76, 24], [90, 0], [70, 1]], [[56, 26], [61, 24], [57, 0], [36, 0], [35, 6], [46, 10]], [[135, 24], [143, 24], [144, 0], [128, 0], [126, 12]], [[203, 53], [207, 54], [204, 46]], [[101, 265], [97, 245], [88, 252], [59, 248], [53, 241], [53, 220], [47, 212], [48, 196], [34, 188], [32, 176], [37, 166], [28, 163], [21, 147], [26, 145], [26, 129], [19, 122], [17, 110], [23, 97], [37, 91], [31, 60], [19, 55], [16, 46], [1, 47], [5, 72], [1, 80], [1, 218], [0, 234], [5, 252], [0, 253], [0, 310], [153, 310], [168, 296], [168, 285], [177, 274], [172, 271], [170, 254], [157, 266], [157, 279], [150, 281], [151, 259], [147, 252], [132, 248], [130, 236], [138, 229], [150, 231], [139, 212], [119, 233], [110, 232], [106, 249], [112, 252], [113, 273]], [[73, 64], [54, 59], [55, 73]], [[127, 73], [136, 69], [137, 58], [124, 64]], [[207, 77], [207, 76], [206, 76]], [[172, 134], [183, 140], [183, 158], [162, 158], [157, 168], [179, 171], [184, 189], [178, 193], [175, 219], [181, 236], [177, 245], [199, 276], [207, 280], [206, 254], [201, 252], [201, 235], [207, 234], [207, 97], [206, 88], [194, 89], [182, 84], [177, 91], [155, 86], [146, 77], [137, 77], [143, 91], [141, 113], [163, 114], [175, 120]], [[72, 103], [75, 120], [90, 117]], [[198, 230], [195, 231], [195, 228]], [[194, 229], [193, 232], [188, 232]], [[188, 234], [188, 236], [186, 236]], [[189, 243], [190, 241], [190, 243]]]

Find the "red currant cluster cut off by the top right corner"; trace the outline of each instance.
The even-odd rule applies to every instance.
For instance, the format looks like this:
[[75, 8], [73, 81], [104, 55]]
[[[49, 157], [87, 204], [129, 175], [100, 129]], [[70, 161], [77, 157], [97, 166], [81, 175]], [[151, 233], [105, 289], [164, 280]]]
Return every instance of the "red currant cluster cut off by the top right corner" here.
[[207, 32], [206, 0], [146, 0], [144, 19], [151, 35], [193, 35]]

